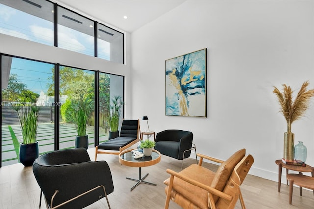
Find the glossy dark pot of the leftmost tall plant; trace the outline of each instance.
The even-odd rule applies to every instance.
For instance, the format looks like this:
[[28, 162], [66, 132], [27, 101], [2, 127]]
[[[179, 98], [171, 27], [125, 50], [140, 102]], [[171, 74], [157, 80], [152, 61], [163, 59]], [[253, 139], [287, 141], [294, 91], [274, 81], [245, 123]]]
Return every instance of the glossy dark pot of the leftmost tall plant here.
[[33, 144], [20, 144], [19, 160], [24, 166], [33, 165], [39, 156], [38, 141]]

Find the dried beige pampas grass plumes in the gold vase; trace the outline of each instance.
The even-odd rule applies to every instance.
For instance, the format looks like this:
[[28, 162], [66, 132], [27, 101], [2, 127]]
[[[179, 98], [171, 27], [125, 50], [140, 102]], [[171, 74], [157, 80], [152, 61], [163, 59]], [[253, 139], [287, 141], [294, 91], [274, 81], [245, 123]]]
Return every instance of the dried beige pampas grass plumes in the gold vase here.
[[292, 89], [290, 86], [283, 84], [283, 93], [274, 87], [273, 93], [278, 97], [279, 105], [281, 106], [282, 114], [284, 115], [287, 124], [292, 124], [295, 120], [304, 116], [305, 111], [308, 109], [310, 99], [314, 96], [314, 89], [307, 90], [309, 85], [308, 81], [302, 84], [302, 87], [293, 101]]

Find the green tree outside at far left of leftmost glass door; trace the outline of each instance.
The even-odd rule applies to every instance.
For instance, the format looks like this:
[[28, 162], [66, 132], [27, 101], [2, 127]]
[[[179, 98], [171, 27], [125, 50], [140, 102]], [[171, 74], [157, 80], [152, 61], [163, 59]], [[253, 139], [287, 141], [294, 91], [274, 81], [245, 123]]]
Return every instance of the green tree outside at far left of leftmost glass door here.
[[8, 87], [2, 90], [2, 101], [19, 101], [23, 90], [26, 90], [26, 84], [20, 82], [16, 74], [11, 74]]

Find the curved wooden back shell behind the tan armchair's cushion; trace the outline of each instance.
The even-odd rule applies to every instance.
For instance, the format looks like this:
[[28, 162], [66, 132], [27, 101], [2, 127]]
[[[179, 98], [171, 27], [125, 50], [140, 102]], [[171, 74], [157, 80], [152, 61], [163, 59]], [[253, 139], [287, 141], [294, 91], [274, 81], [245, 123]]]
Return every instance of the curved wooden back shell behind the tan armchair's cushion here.
[[254, 159], [252, 155], [244, 157], [234, 168], [227, 184], [223, 190], [224, 193], [232, 196], [231, 201], [219, 198], [216, 203], [216, 208], [220, 209], [233, 209], [240, 195], [240, 186], [243, 183], [245, 177], [247, 176]]

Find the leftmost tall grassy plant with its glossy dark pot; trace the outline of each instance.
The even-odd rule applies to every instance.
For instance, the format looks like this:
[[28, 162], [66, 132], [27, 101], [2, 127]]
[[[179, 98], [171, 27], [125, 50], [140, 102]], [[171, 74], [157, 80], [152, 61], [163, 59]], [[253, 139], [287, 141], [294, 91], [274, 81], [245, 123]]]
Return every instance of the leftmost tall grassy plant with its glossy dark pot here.
[[34, 103], [24, 102], [12, 106], [17, 112], [23, 142], [20, 144], [19, 161], [24, 166], [31, 166], [39, 156], [38, 141], [36, 141], [38, 116], [40, 107]]

